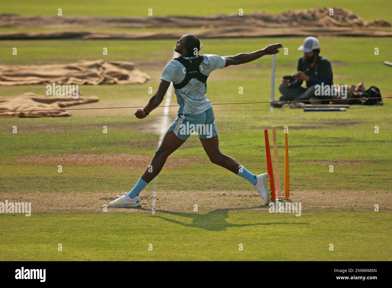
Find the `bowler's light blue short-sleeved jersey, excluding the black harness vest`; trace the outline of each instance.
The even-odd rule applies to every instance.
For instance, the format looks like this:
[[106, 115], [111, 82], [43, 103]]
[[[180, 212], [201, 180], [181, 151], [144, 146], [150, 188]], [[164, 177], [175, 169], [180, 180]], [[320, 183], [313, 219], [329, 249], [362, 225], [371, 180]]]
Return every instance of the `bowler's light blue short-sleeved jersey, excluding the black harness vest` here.
[[[199, 67], [201, 74], [205, 76], [209, 76], [212, 71], [218, 68], [222, 69], [226, 65], [226, 59], [221, 56], [214, 54], [205, 54], [203, 56], [203, 62], [201, 62]], [[184, 58], [192, 61], [196, 57]], [[172, 60], [163, 69], [161, 80], [177, 84], [184, 80], [185, 73], [184, 65], [177, 60]], [[210, 100], [205, 96], [207, 83], [200, 82], [196, 78], [192, 78], [185, 87], [175, 89], [175, 93], [177, 103], [180, 105], [179, 114], [200, 114], [212, 107]]]

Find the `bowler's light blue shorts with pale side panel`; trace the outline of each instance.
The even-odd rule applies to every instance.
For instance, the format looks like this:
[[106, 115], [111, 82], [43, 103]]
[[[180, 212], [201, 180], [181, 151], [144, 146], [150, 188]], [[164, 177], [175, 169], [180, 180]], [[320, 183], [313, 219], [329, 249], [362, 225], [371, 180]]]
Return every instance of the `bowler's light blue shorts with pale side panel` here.
[[207, 139], [218, 135], [215, 128], [215, 116], [212, 107], [200, 114], [178, 114], [167, 132], [174, 132], [180, 139], [186, 140], [196, 132], [199, 138]]

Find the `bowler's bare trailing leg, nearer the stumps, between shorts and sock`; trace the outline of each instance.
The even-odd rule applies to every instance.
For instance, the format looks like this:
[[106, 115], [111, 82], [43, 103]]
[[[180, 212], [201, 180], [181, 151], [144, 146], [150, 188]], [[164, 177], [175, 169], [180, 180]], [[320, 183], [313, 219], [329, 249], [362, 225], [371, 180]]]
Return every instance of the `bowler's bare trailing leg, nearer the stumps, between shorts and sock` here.
[[203, 148], [212, 163], [219, 165], [223, 168], [226, 168], [231, 172], [233, 172], [234, 174], [238, 175], [240, 164], [235, 159], [225, 154], [222, 154], [222, 152], [220, 152], [218, 135], [212, 138], [207, 138], [207, 139], [199, 138], [199, 139], [201, 145], [203, 145]]

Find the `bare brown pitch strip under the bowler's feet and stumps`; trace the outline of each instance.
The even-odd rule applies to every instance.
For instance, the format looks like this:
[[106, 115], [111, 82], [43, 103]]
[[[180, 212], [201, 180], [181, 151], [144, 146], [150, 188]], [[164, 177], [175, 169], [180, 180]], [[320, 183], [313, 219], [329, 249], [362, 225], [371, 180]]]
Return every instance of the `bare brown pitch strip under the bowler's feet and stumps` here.
[[[57, 192], [57, 193], [2, 193], [0, 202], [31, 202], [32, 213], [151, 213], [152, 192], [143, 191], [140, 195], [142, 206], [138, 208], [107, 208], [104, 205], [123, 192]], [[391, 191], [294, 191], [290, 200], [301, 203], [301, 213], [310, 210], [379, 210], [392, 209]], [[262, 206], [258, 194], [253, 191], [163, 191], [158, 190], [156, 196], [156, 213], [160, 212], [198, 212], [214, 210], [268, 210]]]

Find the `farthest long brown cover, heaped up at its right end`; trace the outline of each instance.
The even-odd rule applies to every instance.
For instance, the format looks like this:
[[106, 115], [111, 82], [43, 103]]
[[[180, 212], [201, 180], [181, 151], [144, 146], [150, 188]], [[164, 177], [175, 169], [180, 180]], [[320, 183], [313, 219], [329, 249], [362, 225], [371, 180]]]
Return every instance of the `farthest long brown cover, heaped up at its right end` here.
[[354, 12], [333, 8], [312, 8], [299, 11], [286, 11], [279, 15], [265, 13], [220, 14], [205, 17], [164, 16], [164, 17], [92, 17], [92, 16], [24, 16], [17, 14], [0, 14], [0, 27], [368, 27], [388, 26], [385, 20], [365, 21]]

